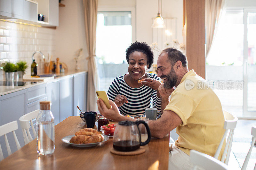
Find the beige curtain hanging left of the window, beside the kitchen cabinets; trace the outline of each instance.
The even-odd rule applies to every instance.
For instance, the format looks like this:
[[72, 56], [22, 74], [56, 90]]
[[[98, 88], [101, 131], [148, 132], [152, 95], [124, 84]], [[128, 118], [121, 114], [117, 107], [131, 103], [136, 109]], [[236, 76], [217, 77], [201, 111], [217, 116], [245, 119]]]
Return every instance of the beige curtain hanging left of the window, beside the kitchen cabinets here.
[[96, 111], [98, 70], [95, 56], [98, 0], [83, 0], [85, 38], [88, 50], [87, 111]]

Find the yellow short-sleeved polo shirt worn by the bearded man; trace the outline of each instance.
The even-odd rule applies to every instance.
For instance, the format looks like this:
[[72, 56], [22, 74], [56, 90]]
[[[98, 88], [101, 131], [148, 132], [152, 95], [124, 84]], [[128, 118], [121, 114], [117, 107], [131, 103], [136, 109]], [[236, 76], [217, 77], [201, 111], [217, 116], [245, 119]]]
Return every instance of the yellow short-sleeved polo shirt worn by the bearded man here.
[[[190, 149], [214, 156], [224, 135], [224, 115], [217, 95], [207, 82], [190, 70], [172, 92], [164, 110], [172, 110], [182, 123], [176, 128], [179, 135], [175, 145], [189, 155]], [[222, 146], [220, 157], [225, 144]]]

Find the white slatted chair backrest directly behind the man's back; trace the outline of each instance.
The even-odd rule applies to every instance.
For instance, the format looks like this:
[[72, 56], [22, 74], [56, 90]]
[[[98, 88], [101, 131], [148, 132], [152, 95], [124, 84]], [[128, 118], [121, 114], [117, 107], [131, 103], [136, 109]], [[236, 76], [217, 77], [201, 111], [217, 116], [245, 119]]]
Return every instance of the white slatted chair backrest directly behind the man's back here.
[[[226, 145], [225, 145], [225, 149], [224, 149], [224, 152], [221, 157], [221, 162], [224, 162], [225, 164], [228, 165], [228, 160], [229, 160], [229, 156], [230, 156], [230, 152], [231, 152], [231, 146], [232, 146], [232, 142], [233, 142], [234, 130], [236, 128], [236, 123], [237, 123], [238, 119], [235, 115], [228, 113], [225, 110], [223, 110], [223, 114], [224, 114], [224, 118], [225, 118], [223, 128], [226, 130], [225, 130], [225, 133], [220, 141], [219, 147], [214, 155], [214, 158], [218, 159], [222, 145], [228, 136], [228, 139], [227, 139]], [[228, 133], [228, 130], [229, 130], [229, 133]]]

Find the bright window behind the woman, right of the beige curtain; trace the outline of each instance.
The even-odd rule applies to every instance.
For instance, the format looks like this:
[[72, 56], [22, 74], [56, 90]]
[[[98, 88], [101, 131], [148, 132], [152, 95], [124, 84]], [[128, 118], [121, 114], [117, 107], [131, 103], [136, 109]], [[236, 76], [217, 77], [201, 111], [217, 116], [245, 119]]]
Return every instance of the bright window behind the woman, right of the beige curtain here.
[[128, 73], [125, 51], [134, 39], [133, 15], [133, 9], [98, 11], [95, 55], [100, 90], [107, 91], [114, 78]]

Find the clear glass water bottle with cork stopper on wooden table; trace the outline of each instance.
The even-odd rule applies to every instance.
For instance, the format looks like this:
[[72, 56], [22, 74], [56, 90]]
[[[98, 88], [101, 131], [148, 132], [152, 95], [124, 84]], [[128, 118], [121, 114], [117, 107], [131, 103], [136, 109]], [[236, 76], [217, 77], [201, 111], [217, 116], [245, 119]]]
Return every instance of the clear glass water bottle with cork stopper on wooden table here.
[[36, 118], [36, 150], [40, 155], [51, 154], [55, 150], [54, 117], [50, 101], [40, 101], [40, 112]]

